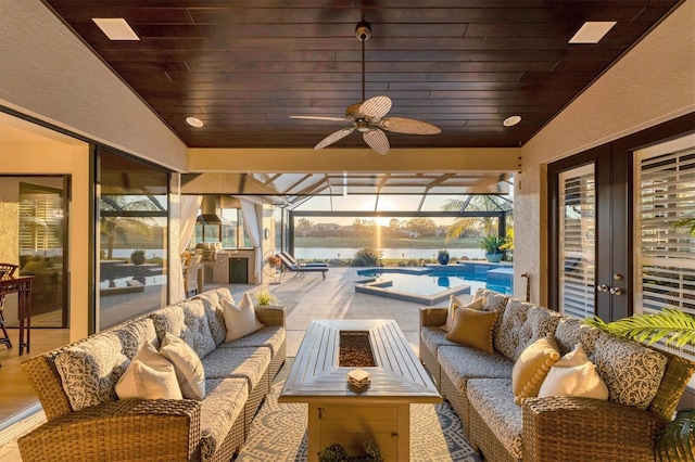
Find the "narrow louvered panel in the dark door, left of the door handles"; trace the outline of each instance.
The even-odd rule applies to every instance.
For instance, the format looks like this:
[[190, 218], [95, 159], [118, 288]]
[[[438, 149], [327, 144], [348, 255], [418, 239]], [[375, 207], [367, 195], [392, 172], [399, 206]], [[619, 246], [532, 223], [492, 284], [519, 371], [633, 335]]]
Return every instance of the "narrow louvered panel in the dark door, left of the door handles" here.
[[594, 164], [559, 175], [559, 310], [594, 316], [596, 188]]

